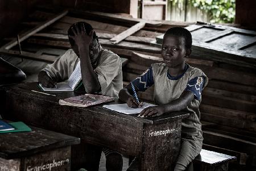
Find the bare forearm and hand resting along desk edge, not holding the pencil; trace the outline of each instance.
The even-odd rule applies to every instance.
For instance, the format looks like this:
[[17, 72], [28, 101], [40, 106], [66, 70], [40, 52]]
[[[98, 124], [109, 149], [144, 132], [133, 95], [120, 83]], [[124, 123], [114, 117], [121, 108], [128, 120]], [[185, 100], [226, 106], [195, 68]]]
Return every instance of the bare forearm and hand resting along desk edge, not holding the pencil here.
[[194, 98], [194, 94], [191, 91], [183, 91], [179, 98], [166, 103], [164, 105], [151, 106], [142, 110], [138, 116], [142, 118], [147, 116], [160, 116], [165, 112], [180, 111], [185, 109]]

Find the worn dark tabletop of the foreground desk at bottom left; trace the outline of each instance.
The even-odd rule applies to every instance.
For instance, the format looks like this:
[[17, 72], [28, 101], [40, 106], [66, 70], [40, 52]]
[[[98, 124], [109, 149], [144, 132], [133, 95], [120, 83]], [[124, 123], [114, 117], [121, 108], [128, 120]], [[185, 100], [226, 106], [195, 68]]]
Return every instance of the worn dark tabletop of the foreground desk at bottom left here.
[[0, 134], [0, 157], [16, 159], [80, 143], [77, 137], [36, 127], [31, 129], [29, 132]]

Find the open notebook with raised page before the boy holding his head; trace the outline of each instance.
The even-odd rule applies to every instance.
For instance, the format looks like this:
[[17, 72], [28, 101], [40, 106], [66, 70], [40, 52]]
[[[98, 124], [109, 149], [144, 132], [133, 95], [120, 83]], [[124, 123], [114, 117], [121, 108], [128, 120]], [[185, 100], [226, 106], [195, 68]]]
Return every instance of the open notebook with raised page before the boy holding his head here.
[[72, 72], [71, 76], [67, 81], [57, 83], [57, 88], [47, 88], [39, 84], [40, 89], [43, 91], [74, 91], [79, 87], [82, 82], [80, 61], [77, 62], [75, 70]]

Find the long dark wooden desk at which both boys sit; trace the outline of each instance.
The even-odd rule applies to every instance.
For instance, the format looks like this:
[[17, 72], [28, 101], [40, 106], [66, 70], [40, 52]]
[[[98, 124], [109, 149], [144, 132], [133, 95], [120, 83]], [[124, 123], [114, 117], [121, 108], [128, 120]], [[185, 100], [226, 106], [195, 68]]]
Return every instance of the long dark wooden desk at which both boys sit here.
[[80, 137], [86, 143], [139, 156], [141, 170], [171, 170], [174, 167], [180, 148], [181, 119], [189, 114], [172, 112], [158, 118], [138, 118], [135, 114], [106, 110], [102, 105], [82, 108], [58, 103], [59, 99], [81, 93], [52, 92], [56, 94], [53, 97], [31, 90], [39, 91], [36, 83], [2, 87], [4, 119], [22, 120]]

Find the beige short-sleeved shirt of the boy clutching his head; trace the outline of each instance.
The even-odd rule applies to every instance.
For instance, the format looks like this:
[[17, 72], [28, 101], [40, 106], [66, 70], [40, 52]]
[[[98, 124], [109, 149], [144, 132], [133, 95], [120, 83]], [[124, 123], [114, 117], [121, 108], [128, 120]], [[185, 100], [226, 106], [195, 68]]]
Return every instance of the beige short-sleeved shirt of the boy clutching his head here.
[[[118, 93], [123, 87], [121, 59], [112, 51], [102, 49], [101, 46], [99, 55], [94, 72], [101, 85], [101, 94], [118, 97]], [[53, 64], [47, 65], [43, 70], [57, 82], [62, 82], [68, 80], [79, 60], [76, 53], [72, 49], [68, 49], [63, 56]]]

